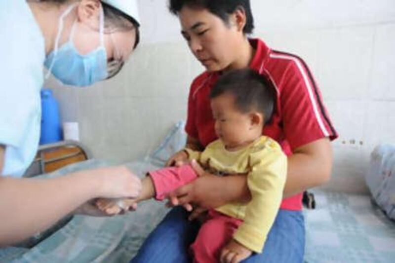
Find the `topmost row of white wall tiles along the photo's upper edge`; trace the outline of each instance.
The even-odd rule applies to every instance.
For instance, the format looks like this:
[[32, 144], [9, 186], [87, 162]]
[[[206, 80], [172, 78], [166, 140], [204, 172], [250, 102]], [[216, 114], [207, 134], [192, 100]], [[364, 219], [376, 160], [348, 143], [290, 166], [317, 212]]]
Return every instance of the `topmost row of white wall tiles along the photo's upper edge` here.
[[[167, 9], [168, 0], [138, 0], [142, 40], [181, 39], [180, 25]], [[321, 29], [395, 21], [394, 0], [250, 0], [257, 33]]]

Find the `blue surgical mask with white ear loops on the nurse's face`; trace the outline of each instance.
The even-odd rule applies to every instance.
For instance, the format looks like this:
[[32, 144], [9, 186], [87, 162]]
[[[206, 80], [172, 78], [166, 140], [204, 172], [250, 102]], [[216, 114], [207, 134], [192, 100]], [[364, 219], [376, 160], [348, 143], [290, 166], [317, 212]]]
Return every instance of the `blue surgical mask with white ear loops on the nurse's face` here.
[[73, 24], [70, 39], [67, 43], [59, 47], [59, 40], [63, 31], [63, 20], [76, 4], [71, 5], [59, 19], [59, 30], [55, 40], [54, 50], [46, 57], [45, 67], [65, 85], [89, 86], [93, 83], [104, 80], [108, 76], [107, 53], [104, 47], [104, 13], [100, 12], [100, 46], [86, 55], [79, 54], [74, 46], [73, 36], [76, 22]]

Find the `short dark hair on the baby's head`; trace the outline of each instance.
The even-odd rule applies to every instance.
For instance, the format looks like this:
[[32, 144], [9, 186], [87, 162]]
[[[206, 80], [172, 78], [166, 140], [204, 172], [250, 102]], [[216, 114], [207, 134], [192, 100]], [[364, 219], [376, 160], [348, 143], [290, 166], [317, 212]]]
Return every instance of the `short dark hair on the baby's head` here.
[[210, 92], [210, 98], [230, 93], [242, 113], [257, 111], [264, 115], [264, 124], [272, 117], [276, 105], [276, 88], [263, 75], [251, 69], [232, 70], [221, 75]]

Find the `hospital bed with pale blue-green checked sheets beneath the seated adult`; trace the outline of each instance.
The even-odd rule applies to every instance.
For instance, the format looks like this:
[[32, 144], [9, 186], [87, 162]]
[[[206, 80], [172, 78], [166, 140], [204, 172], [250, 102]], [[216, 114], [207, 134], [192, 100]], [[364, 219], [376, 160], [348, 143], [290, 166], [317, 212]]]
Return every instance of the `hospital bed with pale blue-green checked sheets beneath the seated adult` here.
[[[170, 154], [182, 148], [185, 138], [183, 122], [180, 122], [157, 150], [145, 158], [126, 163], [126, 166], [143, 176], [147, 170], [163, 165]], [[111, 164], [87, 158], [40, 177], [61, 176]], [[371, 203], [369, 195], [313, 192], [316, 209], [304, 211], [305, 262], [395, 262], [395, 223]], [[31, 248], [0, 250], [0, 262], [129, 262], [167, 211], [163, 203], [147, 201], [136, 212], [123, 216], [70, 217], [60, 222], [55, 231], [31, 240], [28, 244], [33, 245]]]

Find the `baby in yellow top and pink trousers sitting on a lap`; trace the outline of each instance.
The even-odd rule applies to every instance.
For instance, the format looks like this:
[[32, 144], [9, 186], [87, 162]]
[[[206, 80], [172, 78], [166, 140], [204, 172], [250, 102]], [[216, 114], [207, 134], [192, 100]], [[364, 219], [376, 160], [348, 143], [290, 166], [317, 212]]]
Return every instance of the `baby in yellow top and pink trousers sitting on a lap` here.
[[[276, 104], [276, 89], [262, 75], [235, 70], [222, 75], [210, 93], [218, 140], [205, 150], [184, 149], [189, 160], [196, 159], [212, 174], [245, 174], [251, 193], [247, 204], [229, 203], [211, 209], [191, 245], [195, 262], [218, 262], [233, 257], [234, 262], [261, 253], [282, 199], [287, 158], [281, 147], [262, 136]], [[182, 185], [195, 180], [191, 165], [150, 171], [142, 179], [143, 190], [134, 200], [123, 200], [123, 209], [155, 197], [162, 200]], [[111, 200], [97, 205], [107, 213], [122, 208]]]

